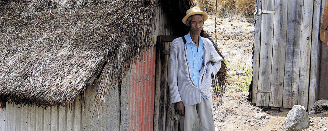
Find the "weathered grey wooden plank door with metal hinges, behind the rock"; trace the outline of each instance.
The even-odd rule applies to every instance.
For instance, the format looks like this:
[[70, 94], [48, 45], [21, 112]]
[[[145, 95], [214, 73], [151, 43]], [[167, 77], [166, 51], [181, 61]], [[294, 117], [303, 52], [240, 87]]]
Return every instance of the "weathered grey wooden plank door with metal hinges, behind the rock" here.
[[258, 0], [257, 4], [261, 11], [260, 26], [256, 22], [260, 34], [255, 32], [253, 102], [307, 108], [314, 1]]

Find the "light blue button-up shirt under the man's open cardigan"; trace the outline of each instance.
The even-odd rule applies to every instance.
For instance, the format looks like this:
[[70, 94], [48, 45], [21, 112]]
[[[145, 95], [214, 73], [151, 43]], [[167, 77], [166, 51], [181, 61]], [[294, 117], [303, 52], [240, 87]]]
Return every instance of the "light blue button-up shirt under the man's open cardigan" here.
[[[199, 87], [199, 72], [203, 67], [203, 40], [199, 36], [198, 51], [197, 46], [190, 37], [190, 32], [184, 36], [187, 41], [187, 58], [190, 66], [191, 77], [197, 87]], [[206, 99], [204, 94], [201, 96]]]

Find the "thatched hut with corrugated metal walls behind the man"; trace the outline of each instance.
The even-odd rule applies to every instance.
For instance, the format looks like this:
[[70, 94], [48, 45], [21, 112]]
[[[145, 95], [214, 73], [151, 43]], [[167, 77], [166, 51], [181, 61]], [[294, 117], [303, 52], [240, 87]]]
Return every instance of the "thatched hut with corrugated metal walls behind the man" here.
[[1, 1], [0, 130], [178, 130], [166, 58], [170, 41], [187, 33], [181, 18], [193, 6]]

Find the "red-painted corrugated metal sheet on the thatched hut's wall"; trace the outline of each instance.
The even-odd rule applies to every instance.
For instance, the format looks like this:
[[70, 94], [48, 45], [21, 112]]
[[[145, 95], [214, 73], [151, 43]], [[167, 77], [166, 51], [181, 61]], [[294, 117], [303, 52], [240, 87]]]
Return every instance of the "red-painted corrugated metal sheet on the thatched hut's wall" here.
[[155, 90], [155, 48], [146, 49], [130, 72], [129, 131], [152, 131]]

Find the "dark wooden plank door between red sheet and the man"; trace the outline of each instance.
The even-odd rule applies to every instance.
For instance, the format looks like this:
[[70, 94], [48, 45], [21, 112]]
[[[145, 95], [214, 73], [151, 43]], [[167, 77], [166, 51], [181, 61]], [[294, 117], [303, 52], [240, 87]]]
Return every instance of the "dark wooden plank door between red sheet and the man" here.
[[154, 131], [178, 131], [178, 114], [171, 103], [167, 67], [171, 42], [176, 36], [158, 36], [156, 41], [156, 86]]

